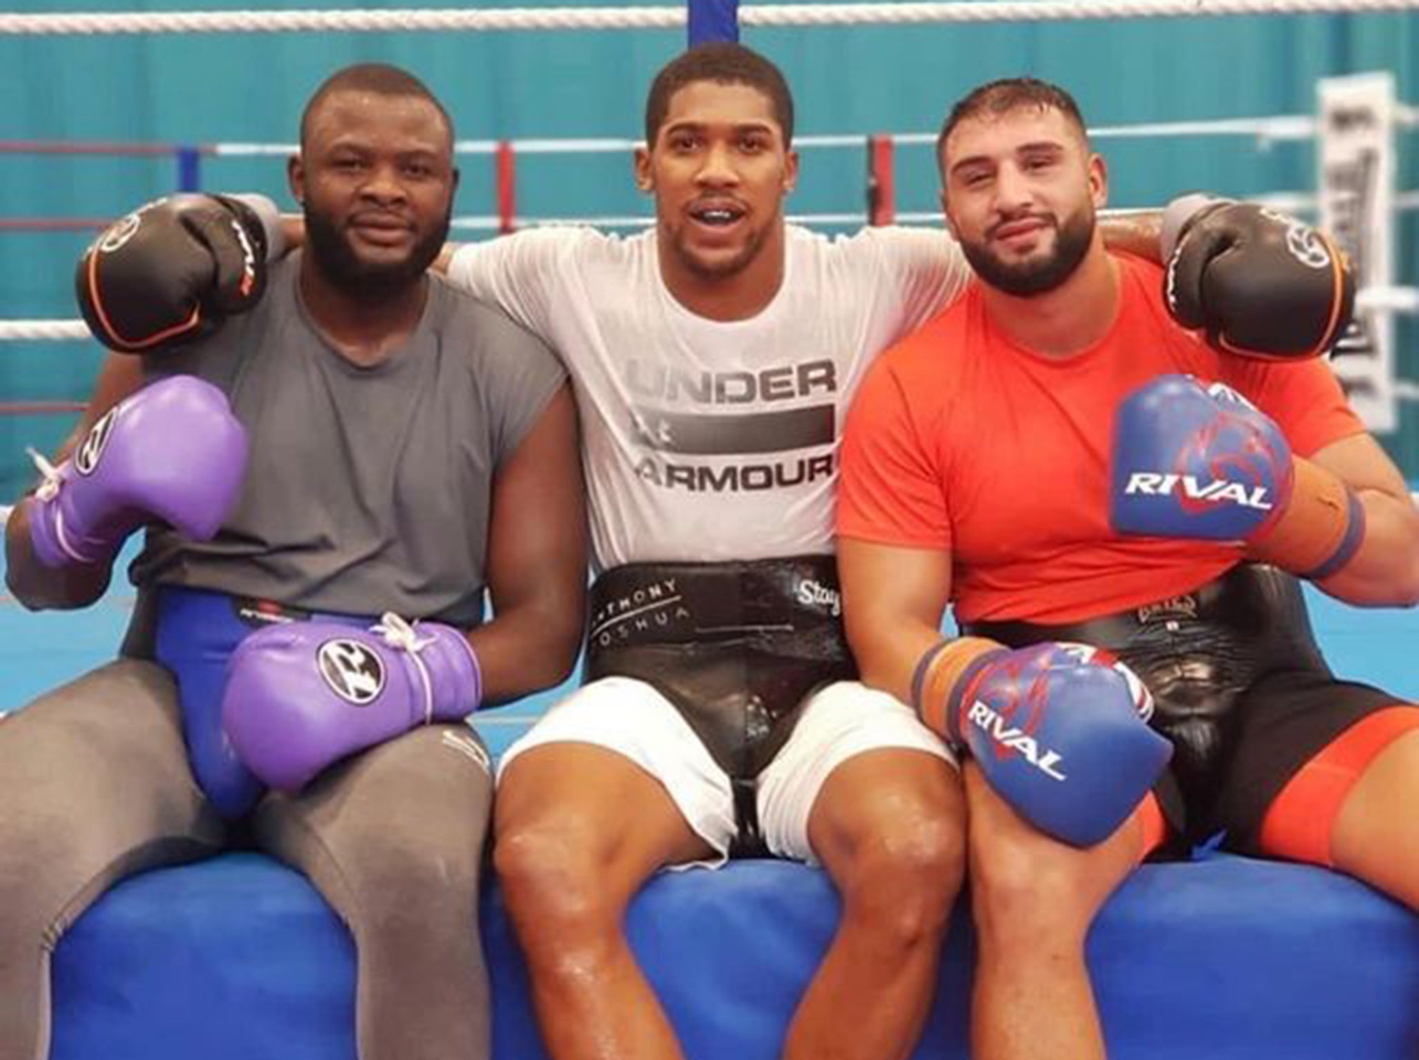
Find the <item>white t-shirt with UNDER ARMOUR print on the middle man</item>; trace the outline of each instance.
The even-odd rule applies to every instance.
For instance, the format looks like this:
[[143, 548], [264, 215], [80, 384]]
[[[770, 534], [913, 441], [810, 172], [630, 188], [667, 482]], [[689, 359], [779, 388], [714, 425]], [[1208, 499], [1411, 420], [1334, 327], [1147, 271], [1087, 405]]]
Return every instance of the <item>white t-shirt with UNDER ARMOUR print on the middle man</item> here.
[[778, 295], [719, 322], [666, 289], [654, 230], [535, 228], [460, 248], [448, 278], [562, 356], [606, 569], [832, 552], [853, 393], [971, 271], [941, 230], [789, 226]]

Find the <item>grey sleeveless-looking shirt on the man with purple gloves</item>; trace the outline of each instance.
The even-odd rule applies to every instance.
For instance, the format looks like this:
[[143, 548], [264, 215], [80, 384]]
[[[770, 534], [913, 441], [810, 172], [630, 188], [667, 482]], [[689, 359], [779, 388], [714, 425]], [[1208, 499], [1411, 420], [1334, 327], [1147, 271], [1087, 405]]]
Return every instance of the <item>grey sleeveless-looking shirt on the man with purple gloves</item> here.
[[250, 457], [217, 538], [149, 531], [133, 583], [471, 626], [494, 474], [565, 373], [539, 339], [437, 277], [409, 341], [359, 368], [309, 319], [298, 275], [292, 254], [253, 312], [149, 359], [153, 376], [221, 387]]

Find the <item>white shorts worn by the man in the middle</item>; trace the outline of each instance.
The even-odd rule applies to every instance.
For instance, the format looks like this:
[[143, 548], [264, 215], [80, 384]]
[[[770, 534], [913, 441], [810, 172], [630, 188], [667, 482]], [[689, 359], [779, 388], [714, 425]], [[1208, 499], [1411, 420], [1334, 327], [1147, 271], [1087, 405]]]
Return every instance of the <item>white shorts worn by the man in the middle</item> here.
[[[719, 854], [695, 864], [725, 861], [736, 832], [729, 776], [653, 685], [630, 677], [583, 685], [508, 748], [498, 778], [522, 752], [565, 742], [614, 751], [654, 776], [690, 827]], [[829, 773], [854, 755], [883, 748], [925, 751], [955, 765], [941, 738], [885, 692], [839, 681], [813, 695], [788, 742], [759, 775], [759, 826], [769, 851], [816, 864], [807, 819]]]

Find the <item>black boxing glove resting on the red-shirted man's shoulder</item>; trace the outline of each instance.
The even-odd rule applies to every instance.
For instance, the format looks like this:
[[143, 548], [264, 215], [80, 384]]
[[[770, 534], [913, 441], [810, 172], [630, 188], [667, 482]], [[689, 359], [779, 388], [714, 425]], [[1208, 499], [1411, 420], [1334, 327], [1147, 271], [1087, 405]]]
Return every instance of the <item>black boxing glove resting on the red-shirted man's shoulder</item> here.
[[1355, 277], [1321, 231], [1254, 203], [1191, 194], [1162, 221], [1164, 294], [1183, 328], [1218, 349], [1294, 359], [1325, 353], [1349, 326]]

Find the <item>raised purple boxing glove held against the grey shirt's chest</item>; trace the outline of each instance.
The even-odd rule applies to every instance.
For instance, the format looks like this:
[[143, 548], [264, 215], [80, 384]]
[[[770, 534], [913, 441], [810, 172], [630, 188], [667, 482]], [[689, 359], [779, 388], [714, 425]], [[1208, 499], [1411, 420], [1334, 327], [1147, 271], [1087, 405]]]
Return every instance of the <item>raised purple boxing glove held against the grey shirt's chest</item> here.
[[172, 376], [115, 404], [28, 501], [30, 541], [48, 568], [106, 563], [146, 522], [199, 541], [231, 511], [247, 468], [247, 434], [226, 394]]

